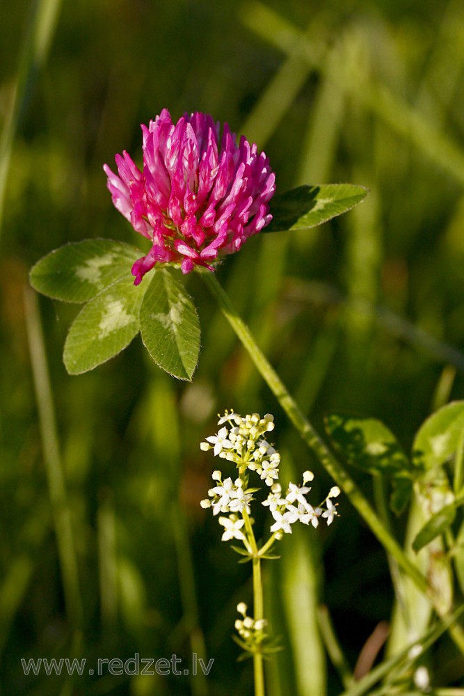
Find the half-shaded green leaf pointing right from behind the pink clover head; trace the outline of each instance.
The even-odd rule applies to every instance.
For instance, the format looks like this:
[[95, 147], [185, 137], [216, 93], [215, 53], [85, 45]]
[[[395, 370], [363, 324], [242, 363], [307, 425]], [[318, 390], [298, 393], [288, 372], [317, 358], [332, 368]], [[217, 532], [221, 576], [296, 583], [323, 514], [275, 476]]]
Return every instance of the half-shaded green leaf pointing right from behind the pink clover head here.
[[369, 189], [355, 184], [299, 186], [274, 196], [269, 203], [272, 220], [263, 232], [307, 230], [350, 210]]

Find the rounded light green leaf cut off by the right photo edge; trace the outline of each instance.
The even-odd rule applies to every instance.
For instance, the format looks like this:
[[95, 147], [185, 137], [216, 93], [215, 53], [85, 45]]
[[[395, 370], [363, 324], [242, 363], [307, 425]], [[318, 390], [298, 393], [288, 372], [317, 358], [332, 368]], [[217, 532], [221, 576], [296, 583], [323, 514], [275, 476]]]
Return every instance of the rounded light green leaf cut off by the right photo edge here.
[[464, 401], [451, 402], [432, 414], [417, 432], [413, 461], [428, 470], [445, 464], [459, 447], [464, 432]]

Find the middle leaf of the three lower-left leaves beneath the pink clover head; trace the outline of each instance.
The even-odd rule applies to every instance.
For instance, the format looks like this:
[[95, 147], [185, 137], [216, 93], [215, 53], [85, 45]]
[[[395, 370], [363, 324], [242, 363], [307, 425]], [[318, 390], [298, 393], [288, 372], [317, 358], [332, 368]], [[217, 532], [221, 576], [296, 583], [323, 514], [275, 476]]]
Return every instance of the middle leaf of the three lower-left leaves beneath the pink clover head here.
[[65, 342], [67, 372], [93, 370], [129, 345], [140, 328], [138, 313], [146, 287], [143, 283], [136, 286], [126, 277], [81, 309]]

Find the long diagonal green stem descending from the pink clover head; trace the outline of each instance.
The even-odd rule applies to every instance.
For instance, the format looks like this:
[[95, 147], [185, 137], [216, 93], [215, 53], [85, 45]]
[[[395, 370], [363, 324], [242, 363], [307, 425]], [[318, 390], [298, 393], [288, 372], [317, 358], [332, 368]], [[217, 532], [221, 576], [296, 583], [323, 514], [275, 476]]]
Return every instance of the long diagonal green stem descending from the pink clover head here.
[[326, 443], [324, 443], [312, 424], [305, 418], [277, 372], [275, 372], [266, 356], [264, 356], [256, 345], [255, 339], [253, 335], [251, 335], [248, 326], [246, 326], [241, 317], [237, 314], [237, 311], [232, 306], [223, 287], [218, 283], [216, 275], [211, 272], [202, 272], [201, 276], [209, 287], [211, 294], [218, 302], [223, 315], [243, 344], [243, 347], [248, 351], [257, 370], [261, 373], [264, 381], [266, 381], [280, 403], [280, 406], [282, 406], [282, 409], [287, 413], [287, 416], [294, 424], [305, 443], [314, 452], [337, 485], [344, 491], [346, 496], [348, 496], [349, 500], [351, 500], [352, 505], [358, 510], [359, 514], [369, 525], [371, 531], [384, 546], [385, 550], [397, 560], [399, 566], [414, 581], [417, 587], [419, 587], [419, 590], [428, 594], [426, 578], [424, 578], [419, 569], [417, 569], [413, 562], [406, 556], [396, 539], [390, 535], [349, 473], [344, 470], [342, 464], [340, 464], [334, 454], [330, 452]]

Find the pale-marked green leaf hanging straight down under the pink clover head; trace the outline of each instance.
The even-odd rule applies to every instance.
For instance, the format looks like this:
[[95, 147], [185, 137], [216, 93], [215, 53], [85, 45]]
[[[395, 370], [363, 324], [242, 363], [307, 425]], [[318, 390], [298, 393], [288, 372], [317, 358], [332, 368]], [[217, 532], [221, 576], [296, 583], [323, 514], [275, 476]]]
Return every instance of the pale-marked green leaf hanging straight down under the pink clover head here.
[[142, 340], [155, 363], [190, 381], [200, 352], [200, 323], [191, 297], [166, 269], [154, 274], [140, 320]]

